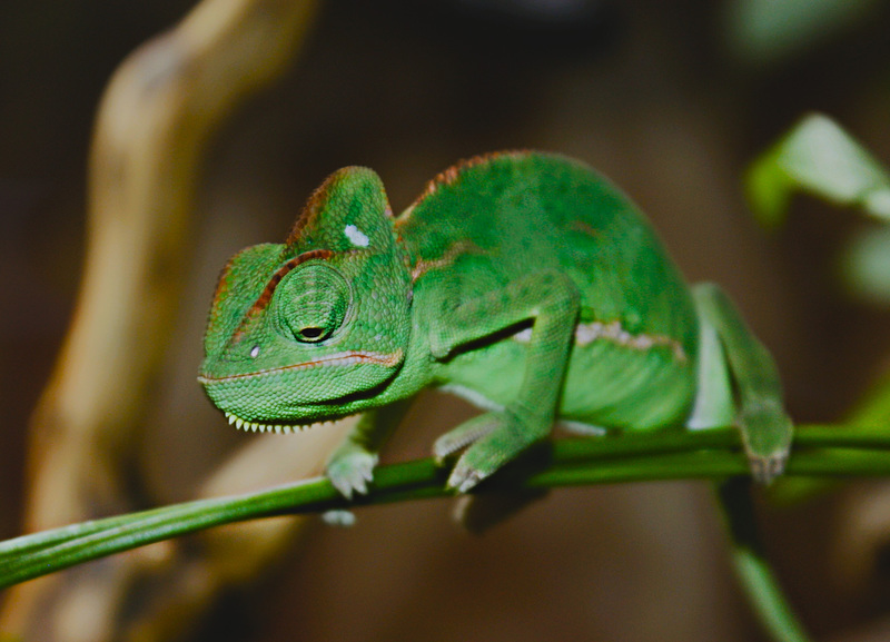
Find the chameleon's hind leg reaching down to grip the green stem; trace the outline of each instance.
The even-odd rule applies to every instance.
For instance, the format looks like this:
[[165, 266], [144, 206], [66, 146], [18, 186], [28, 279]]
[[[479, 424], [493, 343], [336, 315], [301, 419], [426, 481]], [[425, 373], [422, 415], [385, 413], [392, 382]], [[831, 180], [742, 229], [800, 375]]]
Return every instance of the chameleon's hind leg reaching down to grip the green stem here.
[[[692, 292], [702, 323], [711, 326], [703, 328], [700, 358], [714, 364], [718, 359], [713, 357], [722, 348], [734, 389], [735, 424], [742, 434], [751, 474], [756, 481], [769, 483], [784, 470], [793, 433], [793, 425], [782, 404], [779, 371], [770, 353], [754, 337], [720, 287], [705, 283], [696, 285]], [[706, 337], [711, 328], [719, 338], [719, 346], [709, 348]], [[705, 364], [700, 371], [701, 377], [721, 376], [716, 367], [711, 367], [710, 373], [708, 369], [709, 366]], [[712, 381], [703, 379], [700, 384], [712, 385], [713, 389], [720, 389], [720, 384], [714, 385]], [[706, 401], [704, 403], [708, 404]], [[701, 409], [700, 405], [696, 404], [696, 409], [693, 412], [691, 419], [693, 424], [696, 412]], [[719, 401], [716, 405], [720, 405]], [[711, 408], [711, 412], [719, 409]]]

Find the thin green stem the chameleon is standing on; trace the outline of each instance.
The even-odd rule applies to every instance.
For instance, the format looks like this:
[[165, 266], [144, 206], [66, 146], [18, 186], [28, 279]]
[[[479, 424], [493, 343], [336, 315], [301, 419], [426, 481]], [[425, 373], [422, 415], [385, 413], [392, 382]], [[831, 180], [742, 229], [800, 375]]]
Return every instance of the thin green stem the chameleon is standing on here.
[[[873, 427], [800, 426], [789, 475], [890, 475], [890, 434]], [[552, 488], [619, 482], [724, 478], [746, 473], [730, 428], [557, 439], [483, 485]], [[201, 500], [65, 526], [0, 542], [0, 587], [204, 529], [285, 514], [320, 513], [444, 497], [446, 473], [432, 460], [382, 466], [368, 495], [347, 502], [317, 477], [238, 496]]]

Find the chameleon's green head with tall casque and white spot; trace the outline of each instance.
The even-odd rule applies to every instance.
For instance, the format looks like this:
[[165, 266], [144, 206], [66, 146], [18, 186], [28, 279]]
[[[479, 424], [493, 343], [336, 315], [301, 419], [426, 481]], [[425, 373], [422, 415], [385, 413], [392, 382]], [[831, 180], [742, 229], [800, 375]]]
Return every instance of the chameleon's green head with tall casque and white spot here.
[[398, 372], [411, 280], [376, 174], [349, 167], [316, 190], [284, 245], [229, 260], [200, 383], [230, 423], [303, 425], [362, 411]]

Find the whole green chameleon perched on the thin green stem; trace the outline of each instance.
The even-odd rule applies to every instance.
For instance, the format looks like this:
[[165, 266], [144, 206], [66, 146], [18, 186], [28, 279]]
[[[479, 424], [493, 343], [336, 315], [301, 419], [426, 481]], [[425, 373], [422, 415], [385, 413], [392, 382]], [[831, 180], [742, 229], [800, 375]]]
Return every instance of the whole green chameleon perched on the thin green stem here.
[[253, 431], [365, 413], [327, 464], [347, 497], [419, 391], [486, 412], [442, 435], [466, 492], [544, 438], [741, 429], [755, 478], [792, 424], [767, 349], [712, 284], [690, 289], [645, 218], [585, 165], [503, 152], [459, 164], [394, 217], [379, 177], [330, 176], [283, 245], [219, 279], [200, 383]]

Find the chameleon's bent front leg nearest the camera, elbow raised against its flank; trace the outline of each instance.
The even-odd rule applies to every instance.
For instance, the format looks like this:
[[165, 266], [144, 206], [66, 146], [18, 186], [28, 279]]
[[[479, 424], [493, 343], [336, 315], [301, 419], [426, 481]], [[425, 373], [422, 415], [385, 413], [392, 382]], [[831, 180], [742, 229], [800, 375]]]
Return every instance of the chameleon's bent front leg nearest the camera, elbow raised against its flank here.
[[446, 307], [445, 323], [431, 334], [433, 356], [438, 359], [447, 358], [462, 345], [532, 320], [525, 372], [516, 398], [503, 409], [461, 424], [433, 446], [433, 454], [439, 461], [469, 446], [452, 471], [449, 487], [468, 491], [550, 433], [568, 365], [578, 306], [577, 288], [568, 277], [542, 271]]

